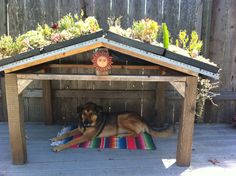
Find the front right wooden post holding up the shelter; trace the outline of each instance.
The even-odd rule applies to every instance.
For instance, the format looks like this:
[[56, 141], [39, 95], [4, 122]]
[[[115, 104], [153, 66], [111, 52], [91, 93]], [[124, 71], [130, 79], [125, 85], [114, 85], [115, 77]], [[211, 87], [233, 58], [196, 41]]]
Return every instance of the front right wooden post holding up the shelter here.
[[176, 162], [178, 166], [189, 166], [192, 154], [192, 138], [196, 108], [197, 77], [187, 77], [183, 111], [180, 117]]

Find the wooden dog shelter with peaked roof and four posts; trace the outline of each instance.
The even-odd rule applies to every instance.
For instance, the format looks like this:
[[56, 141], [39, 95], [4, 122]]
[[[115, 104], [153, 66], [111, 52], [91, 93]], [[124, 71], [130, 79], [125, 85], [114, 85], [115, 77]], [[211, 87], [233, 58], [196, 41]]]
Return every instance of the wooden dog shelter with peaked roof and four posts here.
[[[151, 63], [148, 65], [116, 65], [112, 68], [157, 69], [157, 75], [114, 75], [97, 76], [95, 74], [58, 74], [50, 72], [51, 67], [92, 68], [92, 64], [52, 64], [52, 61], [97, 48], [131, 56], [136, 61]], [[122, 59], [122, 58], [120, 58]], [[219, 68], [192, 58], [172, 53], [164, 48], [128, 39], [117, 34], [99, 31], [68, 41], [52, 44], [43, 49], [34, 49], [0, 61], [0, 71], [5, 76], [7, 112], [10, 141], [14, 164], [24, 164], [27, 160], [24, 118], [21, 93], [32, 80], [43, 80], [43, 102], [45, 124], [52, 124], [52, 103], [50, 80], [88, 80], [88, 81], [142, 81], [169, 82], [183, 97], [182, 116], [180, 117], [176, 160], [180, 166], [188, 166], [191, 161], [192, 136], [194, 127], [197, 77], [203, 75], [218, 79]], [[163, 94], [161, 86], [158, 94]], [[161, 95], [159, 96], [159, 98]], [[159, 101], [156, 106], [164, 109]], [[157, 114], [162, 116], [162, 110]]]

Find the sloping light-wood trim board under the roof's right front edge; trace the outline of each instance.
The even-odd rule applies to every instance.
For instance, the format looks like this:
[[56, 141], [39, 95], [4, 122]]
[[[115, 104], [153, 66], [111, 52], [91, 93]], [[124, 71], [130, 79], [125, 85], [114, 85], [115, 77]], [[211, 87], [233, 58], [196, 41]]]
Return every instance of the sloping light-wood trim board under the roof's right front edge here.
[[158, 65], [161, 65], [161, 66], [164, 66], [164, 67], [167, 67], [167, 68], [170, 68], [170, 69], [182, 72], [182, 73], [186, 73], [186, 74], [189, 74], [189, 75], [192, 75], [192, 76], [198, 76], [198, 73], [195, 73], [191, 70], [187, 70], [187, 69], [184, 69], [184, 68], [181, 68], [181, 67], [177, 67], [177, 66], [168, 64], [166, 62], [156, 60], [156, 59], [154, 59], [152, 57], [149, 57], [149, 56], [144, 56], [144, 55], [138, 54], [136, 52], [129, 51], [129, 50], [126, 50], [126, 49], [122, 49], [122, 48], [119, 48], [119, 47], [116, 47], [116, 46], [113, 46], [113, 45], [107, 44], [107, 43], [104, 43], [103, 45], [105, 47], [109, 48], [109, 49], [113, 49], [115, 51], [130, 55], [130, 56], [133, 56], [133, 57], [137, 57], [137, 58], [143, 59], [143, 60], [151, 62], [151, 63], [155, 63], [155, 64], [158, 64]]

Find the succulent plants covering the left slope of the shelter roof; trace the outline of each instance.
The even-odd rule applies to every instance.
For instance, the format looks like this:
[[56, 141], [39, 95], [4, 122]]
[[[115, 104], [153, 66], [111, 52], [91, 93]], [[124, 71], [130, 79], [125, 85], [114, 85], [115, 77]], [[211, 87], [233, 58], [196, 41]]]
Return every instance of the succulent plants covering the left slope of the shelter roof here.
[[90, 16], [84, 19], [83, 12], [80, 16], [68, 14], [52, 26], [38, 25], [35, 30], [28, 31], [16, 38], [1, 36], [0, 59], [99, 30], [101, 29], [95, 17]]

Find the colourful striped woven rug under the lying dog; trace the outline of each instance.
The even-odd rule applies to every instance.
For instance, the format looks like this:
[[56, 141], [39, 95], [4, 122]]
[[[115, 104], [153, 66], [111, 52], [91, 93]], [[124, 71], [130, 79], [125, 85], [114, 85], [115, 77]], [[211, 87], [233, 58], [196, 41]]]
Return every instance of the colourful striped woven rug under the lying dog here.
[[[68, 131], [75, 129], [74, 126], [64, 127], [58, 135], [62, 135]], [[76, 136], [78, 138], [79, 136]], [[75, 137], [66, 138], [62, 141], [52, 142], [51, 146], [57, 146], [61, 144], [65, 144], [72, 140]], [[153, 142], [152, 136], [148, 133], [139, 134], [136, 137], [128, 136], [128, 137], [102, 137], [102, 138], [94, 138], [91, 141], [87, 141], [81, 144], [76, 144], [71, 148], [112, 148], [112, 149], [142, 149], [142, 150], [155, 150], [156, 146]]]

